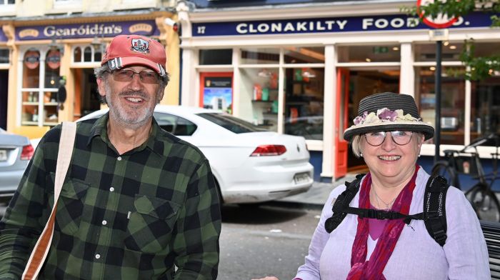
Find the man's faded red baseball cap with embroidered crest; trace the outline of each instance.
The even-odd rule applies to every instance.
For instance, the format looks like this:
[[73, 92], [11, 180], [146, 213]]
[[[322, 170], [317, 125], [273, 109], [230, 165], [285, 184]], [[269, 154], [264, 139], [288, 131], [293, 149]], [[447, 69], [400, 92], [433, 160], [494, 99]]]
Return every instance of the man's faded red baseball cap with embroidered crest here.
[[140, 35], [114, 37], [102, 56], [101, 66], [106, 62], [111, 70], [139, 64], [154, 69], [160, 76], [166, 76], [165, 48], [159, 41]]

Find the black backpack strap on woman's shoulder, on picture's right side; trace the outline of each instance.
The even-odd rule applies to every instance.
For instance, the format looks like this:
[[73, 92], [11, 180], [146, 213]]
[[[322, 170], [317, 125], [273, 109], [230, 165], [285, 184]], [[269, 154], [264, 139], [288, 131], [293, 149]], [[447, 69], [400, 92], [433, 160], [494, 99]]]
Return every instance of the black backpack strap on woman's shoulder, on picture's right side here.
[[424, 195], [424, 223], [436, 242], [444, 246], [446, 242], [446, 191], [449, 184], [442, 176], [431, 176], [427, 181]]

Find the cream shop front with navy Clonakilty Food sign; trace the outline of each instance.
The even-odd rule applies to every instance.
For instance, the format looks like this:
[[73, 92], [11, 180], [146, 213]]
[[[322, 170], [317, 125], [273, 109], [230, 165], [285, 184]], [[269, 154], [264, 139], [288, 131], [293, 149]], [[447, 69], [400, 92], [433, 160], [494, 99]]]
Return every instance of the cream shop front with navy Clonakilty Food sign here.
[[[231, 77], [231, 114], [304, 136], [316, 180], [364, 169], [342, 135], [365, 96], [384, 91], [414, 96], [422, 119], [434, 124], [436, 43], [427, 26], [401, 14], [396, 4], [361, 2], [178, 9], [181, 104], [204, 106], [202, 80], [225, 73]], [[464, 71], [459, 54], [465, 39], [474, 38], [480, 54], [498, 50], [493, 46], [500, 34], [490, 24], [487, 14], [464, 16], [444, 42], [441, 149], [497, 130], [500, 100], [493, 92], [500, 76], [474, 82], [454, 75]], [[432, 141], [422, 154], [434, 155]]]

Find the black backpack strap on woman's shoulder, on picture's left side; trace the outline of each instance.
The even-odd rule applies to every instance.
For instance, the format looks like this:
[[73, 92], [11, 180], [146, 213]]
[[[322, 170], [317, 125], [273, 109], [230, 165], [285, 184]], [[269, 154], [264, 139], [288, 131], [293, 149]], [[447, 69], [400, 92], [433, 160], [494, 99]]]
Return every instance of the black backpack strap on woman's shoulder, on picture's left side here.
[[354, 199], [354, 196], [358, 193], [359, 185], [361, 184], [361, 179], [364, 175], [365, 174], [358, 174], [356, 175], [356, 179], [354, 181], [351, 181], [350, 183], [346, 182], [346, 190], [342, 191], [342, 193], [337, 196], [334, 206], [331, 207], [331, 211], [333, 211], [334, 214], [325, 221], [326, 232], [331, 233], [331, 231], [334, 231], [334, 229], [336, 229], [337, 226], [344, 221], [344, 218], [347, 216], [344, 209], [349, 206], [351, 200]]

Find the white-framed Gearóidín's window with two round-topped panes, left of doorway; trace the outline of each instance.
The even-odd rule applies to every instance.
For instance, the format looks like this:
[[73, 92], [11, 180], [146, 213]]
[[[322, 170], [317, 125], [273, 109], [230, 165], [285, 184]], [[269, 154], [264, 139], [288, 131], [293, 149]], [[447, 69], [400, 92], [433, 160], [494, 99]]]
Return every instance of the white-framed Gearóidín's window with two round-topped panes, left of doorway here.
[[[41, 55], [44, 55], [44, 67], [41, 67]], [[51, 49], [46, 53], [29, 49], [24, 53], [21, 125], [55, 126], [59, 123], [56, 93], [60, 66], [59, 49]]]

